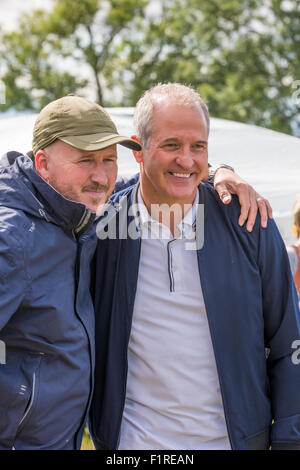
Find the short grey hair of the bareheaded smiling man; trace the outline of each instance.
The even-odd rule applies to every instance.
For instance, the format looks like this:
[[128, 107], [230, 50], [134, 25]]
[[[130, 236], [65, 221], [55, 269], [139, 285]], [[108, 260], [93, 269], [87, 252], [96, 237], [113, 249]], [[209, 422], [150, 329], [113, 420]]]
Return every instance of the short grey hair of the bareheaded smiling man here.
[[209, 133], [210, 120], [208, 107], [199, 93], [194, 88], [181, 83], [159, 83], [142, 95], [134, 111], [134, 132], [144, 147], [147, 148], [149, 138], [153, 132], [152, 116], [155, 104], [167, 99], [174, 104], [189, 108], [199, 106], [204, 113], [207, 134]]

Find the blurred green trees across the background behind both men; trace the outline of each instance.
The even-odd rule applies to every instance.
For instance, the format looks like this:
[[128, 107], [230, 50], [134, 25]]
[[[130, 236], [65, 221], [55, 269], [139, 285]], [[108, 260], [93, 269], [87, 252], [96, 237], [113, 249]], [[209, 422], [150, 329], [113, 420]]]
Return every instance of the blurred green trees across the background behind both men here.
[[67, 93], [134, 106], [179, 81], [214, 117], [300, 136], [299, 0], [53, 0], [0, 39], [0, 110]]

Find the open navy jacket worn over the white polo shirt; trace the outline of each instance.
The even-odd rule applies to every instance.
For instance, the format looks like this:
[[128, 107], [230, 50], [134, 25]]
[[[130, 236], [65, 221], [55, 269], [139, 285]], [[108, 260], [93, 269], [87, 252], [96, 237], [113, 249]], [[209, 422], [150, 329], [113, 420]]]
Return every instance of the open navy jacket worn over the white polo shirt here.
[[[120, 192], [113, 203], [130, 206], [134, 191]], [[199, 273], [231, 447], [300, 449], [295, 360], [300, 319], [285, 246], [272, 220], [262, 229], [258, 217], [252, 233], [239, 227], [235, 197], [224, 205], [206, 183], [199, 194], [204, 204]], [[117, 237], [98, 242], [93, 267], [96, 371], [90, 431], [98, 449], [118, 447], [141, 246], [138, 223], [137, 236], [118, 235], [121, 219], [132, 229], [133, 216], [119, 209], [115, 217]], [[100, 232], [105, 233], [103, 226]]]

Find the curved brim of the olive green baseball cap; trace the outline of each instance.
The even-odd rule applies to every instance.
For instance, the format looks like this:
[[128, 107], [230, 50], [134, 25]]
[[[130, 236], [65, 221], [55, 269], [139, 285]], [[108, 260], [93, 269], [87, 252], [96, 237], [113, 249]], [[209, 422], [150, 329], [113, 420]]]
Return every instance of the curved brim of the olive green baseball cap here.
[[141, 145], [129, 137], [123, 137], [118, 134], [90, 134], [90, 135], [72, 135], [58, 137], [66, 144], [72, 145], [80, 150], [103, 150], [111, 145], [120, 144], [131, 150], [142, 150]]

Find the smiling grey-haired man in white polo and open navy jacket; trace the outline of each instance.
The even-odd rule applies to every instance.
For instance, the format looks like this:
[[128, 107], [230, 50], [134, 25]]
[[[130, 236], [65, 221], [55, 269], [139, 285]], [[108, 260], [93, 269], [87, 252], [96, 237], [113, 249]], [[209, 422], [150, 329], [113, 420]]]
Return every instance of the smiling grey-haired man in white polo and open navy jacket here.
[[134, 123], [140, 180], [97, 227], [96, 448], [299, 449], [299, 310], [275, 223], [248, 233], [237, 198], [203, 182], [197, 92], [158, 85]]

